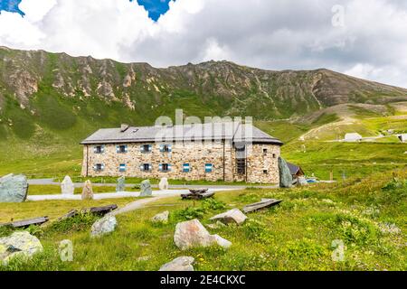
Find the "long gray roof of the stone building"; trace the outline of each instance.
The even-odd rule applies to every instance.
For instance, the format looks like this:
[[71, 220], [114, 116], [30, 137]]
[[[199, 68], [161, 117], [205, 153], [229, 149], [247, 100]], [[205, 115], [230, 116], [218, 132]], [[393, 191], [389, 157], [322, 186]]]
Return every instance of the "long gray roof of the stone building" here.
[[80, 144], [146, 143], [162, 140], [231, 140], [257, 144], [282, 145], [279, 139], [261, 131], [256, 126], [241, 123], [206, 123], [184, 126], [128, 126], [123, 128], [101, 128]]

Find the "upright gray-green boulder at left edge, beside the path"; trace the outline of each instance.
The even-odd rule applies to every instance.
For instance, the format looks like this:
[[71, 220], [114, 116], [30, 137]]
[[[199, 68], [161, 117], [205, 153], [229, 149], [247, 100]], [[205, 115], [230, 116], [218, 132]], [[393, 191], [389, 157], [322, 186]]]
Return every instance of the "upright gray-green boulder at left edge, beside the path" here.
[[27, 199], [28, 182], [23, 174], [0, 178], [0, 202], [23, 202]]

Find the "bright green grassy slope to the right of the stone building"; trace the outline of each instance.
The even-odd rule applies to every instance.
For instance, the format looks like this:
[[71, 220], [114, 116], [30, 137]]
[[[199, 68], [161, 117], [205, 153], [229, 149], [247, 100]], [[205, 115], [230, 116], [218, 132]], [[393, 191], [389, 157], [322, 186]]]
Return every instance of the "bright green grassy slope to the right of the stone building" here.
[[[304, 171], [327, 180], [330, 172], [334, 179], [363, 177], [374, 172], [388, 172], [392, 169], [407, 168], [407, 144], [402, 144], [394, 134], [407, 129], [407, 115], [393, 111], [394, 115], [366, 117], [358, 111], [352, 118], [324, 115], [308, 121], [259, 122], [259, 126], [270, 135], [279, 137], [285, 145], [282, 155], [289, 162], [298, 163]], [[389, 114], [389, 112], [387, 112]], [[307, 117], [306, 117], [307, 118]], [[337, 142], [346, 133], [359, 133], [365, 137], [380, 134], [381, 138], [362, 143]], [[305, 137], [303, 137], [305, 136]]]

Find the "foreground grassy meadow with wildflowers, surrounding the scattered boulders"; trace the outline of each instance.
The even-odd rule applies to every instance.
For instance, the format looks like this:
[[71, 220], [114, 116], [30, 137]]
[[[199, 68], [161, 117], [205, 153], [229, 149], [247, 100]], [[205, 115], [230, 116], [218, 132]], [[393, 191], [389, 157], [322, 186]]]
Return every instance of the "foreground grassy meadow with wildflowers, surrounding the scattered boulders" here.
[[[374, 174], [364, 180], [319, 184], [290, 190], [229, 191], [214, 200], [170, 198], [149, 207], [118, 215], [118, 228], [103, 238], [90, 238], [94, 217], [53, 222], [31, 229], [42, 241], [43, 254], [30, 262], [14, 260], [0, 270], [157, 270], [177, 256], [194, 256], [196, 270], [406, 270], [406, 171]], [[232, 242], [232, 247], [175, 247], [175, 224], [209, 218], [261, 198], [283, 200], [279, 207], [249, 214], [242, 226], [208, 228]], [[50, 206], [52, 204], [52, 206]], [[35, 215], [46, 207], [55, 220], [76, 203], [27, 202], [2, 204], [1, 212], [15, 219]], [[20, 208], [21, 207], [21, 208]], [[52, 210], [52, 211], [50, 211]], [[156, 213], [170, 210], [166, 225], [150, 222]], [[0, 221], [5, 219], [0, 214]], [[3, 228], [0, 237], [9, 234]], [[73, 262], [62, 262], [58, 244], [70, 239]], [[344, 259], [332, 259], [335, 240], [344, 244]]]

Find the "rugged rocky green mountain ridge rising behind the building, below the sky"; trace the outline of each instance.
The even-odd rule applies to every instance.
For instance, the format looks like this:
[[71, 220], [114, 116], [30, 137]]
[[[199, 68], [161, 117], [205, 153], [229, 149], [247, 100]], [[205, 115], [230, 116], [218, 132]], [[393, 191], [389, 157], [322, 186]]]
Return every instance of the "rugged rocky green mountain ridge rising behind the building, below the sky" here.
[[177, 107], [198, 117], [282, 119], [343, 103], [406, 99], [407, 89], [330, 70], [258, 70], [227, 61], [156, 69], [0, 48], [2, 135], [11, 128], [29, 137], [35, 126], [69, 129], [80, 120], [95, 126], [125, 120], [147, 125], [158, 116], [174, 116]]

